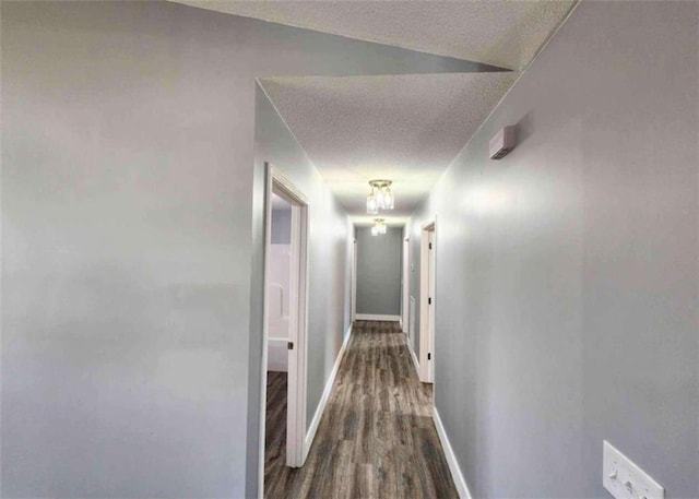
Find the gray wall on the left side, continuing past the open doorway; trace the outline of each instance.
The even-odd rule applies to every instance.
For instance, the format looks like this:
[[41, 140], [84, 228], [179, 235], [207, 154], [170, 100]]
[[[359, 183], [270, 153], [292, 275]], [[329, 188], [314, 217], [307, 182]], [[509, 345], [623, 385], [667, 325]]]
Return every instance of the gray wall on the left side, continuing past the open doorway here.
[[[481, 67], [169, 2], [1, 9], [0, 495], [256, 496], [254, 79]], [[310, 407], [348, 314], [332, 241]]]

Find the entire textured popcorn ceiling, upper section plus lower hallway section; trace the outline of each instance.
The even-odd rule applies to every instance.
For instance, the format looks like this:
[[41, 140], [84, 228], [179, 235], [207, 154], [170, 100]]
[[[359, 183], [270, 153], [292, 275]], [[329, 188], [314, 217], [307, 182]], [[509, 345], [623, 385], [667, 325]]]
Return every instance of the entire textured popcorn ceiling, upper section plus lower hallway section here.
[[[228, 14], [519, 70], [576, 0], [174, 0]], [[261, 81], [280, 115], [353, 216], [368, 180], [394, 182], [401, 224], [516, 80], [470, 72]], [[382, 214], [383, 216], [383, 214]]]

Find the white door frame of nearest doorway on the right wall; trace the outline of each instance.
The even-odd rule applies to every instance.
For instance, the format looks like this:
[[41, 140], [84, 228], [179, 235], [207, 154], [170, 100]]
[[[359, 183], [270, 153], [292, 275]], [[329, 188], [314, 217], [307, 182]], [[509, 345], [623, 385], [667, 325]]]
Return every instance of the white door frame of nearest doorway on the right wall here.
[[[437, 269], [437, 217], [433, 216], [420, 227], [420, 259], [419, 259], [419, 380], [424, 383], [433, 383], [435, 377], [435, 310], [436, 297], [431, 296], [429, 304], [429, 236], [433, 234], [431, 254], [435, 262], [436, 282]], [[435, 286], [436, 287], [436, 286]], [[434, 292], [433, 292], [434, 293]], [[430, 313], [431, 307], [431, 313]]]

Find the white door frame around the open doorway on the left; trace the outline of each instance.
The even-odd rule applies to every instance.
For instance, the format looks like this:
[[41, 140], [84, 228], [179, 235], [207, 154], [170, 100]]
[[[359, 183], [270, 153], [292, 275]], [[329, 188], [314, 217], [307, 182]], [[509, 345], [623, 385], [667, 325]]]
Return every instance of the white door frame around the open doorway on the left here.
[[[269, 265], [272, 241], [272, 193], [292, 205], [292, 252], [289, 276], [289, 343], [286, 418], [286, 465], [304, 465], [306, 437], [306, 399], [308, 376], [308, 236], [309, 204], [305, 193], [294, 186], [277, 168], [265, 164], [264, 192], [264, 301], [262, 328], [262, 411], [260, 415], [260, 497], [264, 494], [264, 437], [266, 418], [266, 368], [269, 340]], [[293, 290], [296, 290], [294, 293]]]

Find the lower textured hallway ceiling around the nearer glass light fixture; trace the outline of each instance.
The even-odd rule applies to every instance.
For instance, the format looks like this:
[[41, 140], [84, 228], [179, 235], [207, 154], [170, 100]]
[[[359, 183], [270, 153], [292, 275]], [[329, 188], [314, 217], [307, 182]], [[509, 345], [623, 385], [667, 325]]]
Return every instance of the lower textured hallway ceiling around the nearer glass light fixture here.
[[516, 78], [497, 72], [261, 83], [351, 215], [364, 214], [370, 179], [389, 178], [395, 210], [387, 215], [405, 217]]

